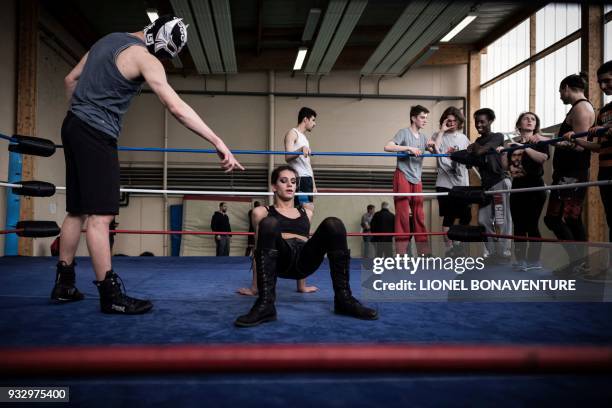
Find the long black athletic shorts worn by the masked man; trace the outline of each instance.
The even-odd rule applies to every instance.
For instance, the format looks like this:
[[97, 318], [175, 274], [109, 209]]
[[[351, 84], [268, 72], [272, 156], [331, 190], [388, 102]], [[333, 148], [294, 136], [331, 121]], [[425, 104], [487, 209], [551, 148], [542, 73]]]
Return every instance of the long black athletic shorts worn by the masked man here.
[[66, 161], [66, 211], [119, 214], [117, 139], [68, 112], [62, 124]]

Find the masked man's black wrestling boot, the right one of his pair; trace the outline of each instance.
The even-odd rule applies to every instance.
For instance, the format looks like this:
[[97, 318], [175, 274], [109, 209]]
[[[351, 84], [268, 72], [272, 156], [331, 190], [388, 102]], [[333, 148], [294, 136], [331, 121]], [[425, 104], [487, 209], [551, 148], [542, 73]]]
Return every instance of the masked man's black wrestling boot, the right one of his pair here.
[[106, 272], [102, 282], [94, 281], [100, 292], [100, 308], [102, 313], [116, 314], [143, 314], [153, 308], [153, 303], [148, 300], [136, 299], [122, 290], [123, 281], [113, 270]]

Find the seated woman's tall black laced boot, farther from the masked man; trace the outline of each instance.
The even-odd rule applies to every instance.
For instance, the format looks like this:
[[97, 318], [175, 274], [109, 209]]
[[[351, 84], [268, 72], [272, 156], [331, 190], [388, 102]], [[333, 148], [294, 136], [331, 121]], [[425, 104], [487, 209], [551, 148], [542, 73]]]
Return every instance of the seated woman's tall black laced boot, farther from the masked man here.
[[329, 269], [334, 286], [334, 312], [336, 314], [356, 317], [363, 320], [378, 319], [378, 312], [365, 307], [351, 293], [349, 285], [349, 269], [351, 266], [351, 253], [349, 250], [337, 250], [327, 253]]

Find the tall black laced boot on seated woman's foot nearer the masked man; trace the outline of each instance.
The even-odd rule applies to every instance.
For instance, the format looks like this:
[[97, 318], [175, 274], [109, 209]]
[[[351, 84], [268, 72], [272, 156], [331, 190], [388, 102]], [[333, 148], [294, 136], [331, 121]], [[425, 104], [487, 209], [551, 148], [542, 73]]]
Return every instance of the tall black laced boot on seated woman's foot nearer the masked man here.
[[259, 297], [249, 313], [236, 319], [234, 324], [238, 327], [253, 327], [276, 320], [274, 300], [276, 299], [278, 251], [276, 249], [258, 249], [255, 251], [255, 260]]

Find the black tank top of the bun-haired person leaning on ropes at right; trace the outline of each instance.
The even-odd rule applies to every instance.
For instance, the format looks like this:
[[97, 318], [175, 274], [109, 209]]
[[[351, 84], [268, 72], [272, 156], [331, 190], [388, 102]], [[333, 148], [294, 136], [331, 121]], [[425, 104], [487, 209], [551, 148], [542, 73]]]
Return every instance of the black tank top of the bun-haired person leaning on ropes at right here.
[[[572, 109], [567, 113], [561, 127], [559, 128], [558, 137], [562, 137], [567, 132], [574, 129], [567, 123], [567, 117], [572, 113], [574, 107], [581, 102], [589, 102], [588, 99], [579, 99], [573, 105]], [[578, 180], [586, 180], [589, 178], [589, 167], [591, 166], [591, 151], [584, 149], [578, 152], [574, 149], [566, 149], [555, 147], [555, 156], [553, 158], [553, 180], [559, 180], [562, 177], [575, 177]]]

